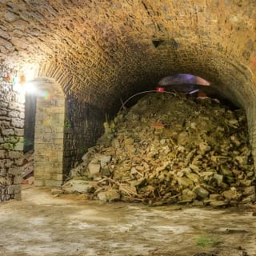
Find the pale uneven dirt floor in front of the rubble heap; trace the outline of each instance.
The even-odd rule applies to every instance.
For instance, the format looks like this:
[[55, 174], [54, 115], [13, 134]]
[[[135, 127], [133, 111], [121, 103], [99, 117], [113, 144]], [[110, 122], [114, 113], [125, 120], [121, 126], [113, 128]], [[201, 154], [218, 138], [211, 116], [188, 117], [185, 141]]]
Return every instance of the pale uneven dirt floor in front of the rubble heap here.
[[253, 210], [54, 198], [26, 186], [0, 204], [0, 255], [256, 255]]

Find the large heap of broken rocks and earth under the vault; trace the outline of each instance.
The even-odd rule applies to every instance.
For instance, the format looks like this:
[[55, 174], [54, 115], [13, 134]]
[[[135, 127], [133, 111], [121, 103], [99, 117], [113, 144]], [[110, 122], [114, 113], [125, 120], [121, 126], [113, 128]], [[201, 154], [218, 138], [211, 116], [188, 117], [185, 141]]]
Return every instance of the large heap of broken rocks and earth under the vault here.
[[255, 202], [255, 183], [242, 110], [158, 93], [105, 123], [62, 190], [105, 202], [225, 206]]

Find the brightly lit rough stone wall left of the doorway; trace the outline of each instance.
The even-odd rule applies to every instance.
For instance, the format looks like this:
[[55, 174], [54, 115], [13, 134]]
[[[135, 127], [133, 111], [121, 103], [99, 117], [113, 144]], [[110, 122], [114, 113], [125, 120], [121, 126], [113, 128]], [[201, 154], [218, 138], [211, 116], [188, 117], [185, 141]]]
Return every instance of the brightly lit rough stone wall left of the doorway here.
[[[21, 198], [25, 95], [0, 77], [0, 202]], [[3, 74], [5, 73], [5, 74]]]

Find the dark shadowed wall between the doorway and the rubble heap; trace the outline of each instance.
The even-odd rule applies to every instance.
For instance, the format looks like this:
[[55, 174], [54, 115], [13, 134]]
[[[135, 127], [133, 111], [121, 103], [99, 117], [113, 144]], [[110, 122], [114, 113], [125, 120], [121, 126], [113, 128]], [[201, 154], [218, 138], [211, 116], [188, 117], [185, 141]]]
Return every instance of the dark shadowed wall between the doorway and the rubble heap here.
[[64, 134], [64, 174], [68, 175], [75, 162], [90, 146], [94, 146], [103, 133], [104, 111], [82, 102], [72, 95], [66, 99], [66, 125]]

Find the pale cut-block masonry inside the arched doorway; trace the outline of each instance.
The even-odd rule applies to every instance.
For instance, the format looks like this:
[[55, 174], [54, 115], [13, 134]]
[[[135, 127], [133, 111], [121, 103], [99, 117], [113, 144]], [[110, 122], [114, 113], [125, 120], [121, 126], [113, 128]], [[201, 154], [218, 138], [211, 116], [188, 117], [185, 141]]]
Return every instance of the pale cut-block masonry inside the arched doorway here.
[[63, 136], [65, 96], [51, 78], [37, 78], [34, 131], [34, 178], [36, 186], [61, 186], [63, 182]]

